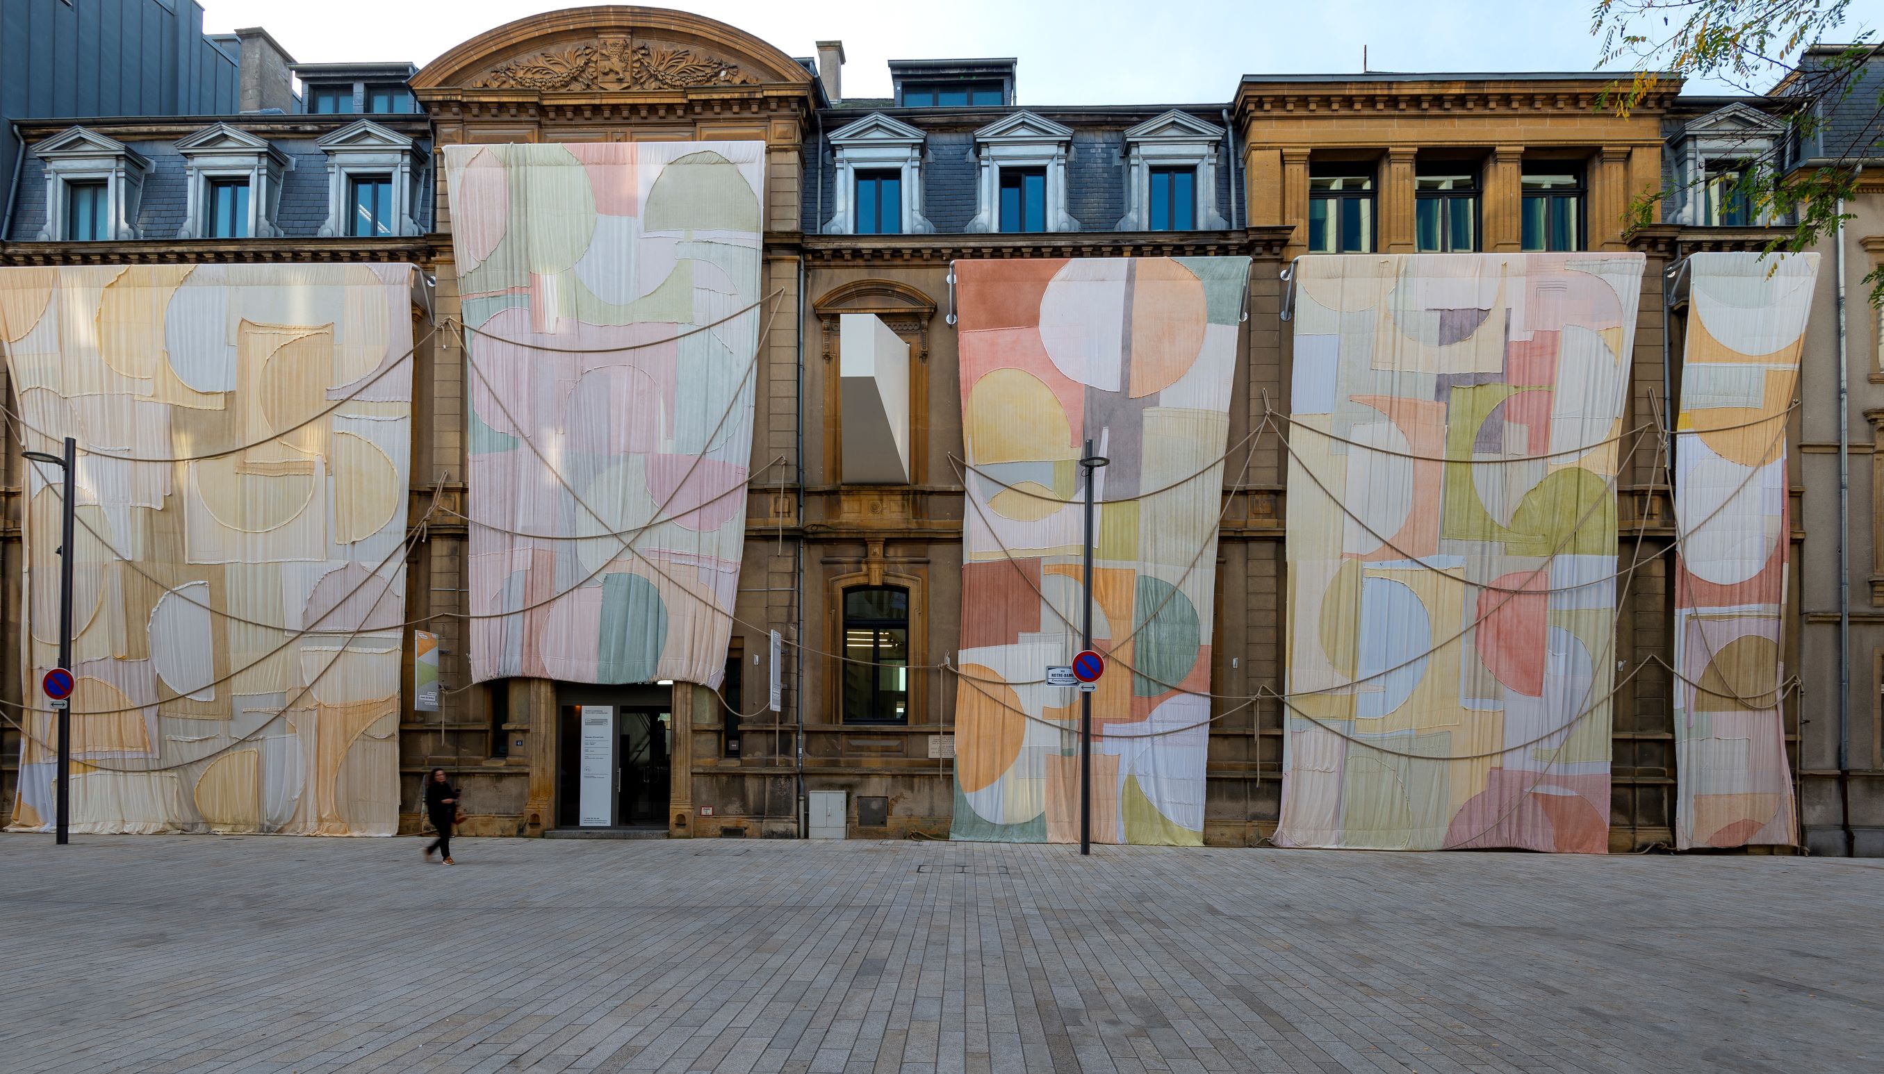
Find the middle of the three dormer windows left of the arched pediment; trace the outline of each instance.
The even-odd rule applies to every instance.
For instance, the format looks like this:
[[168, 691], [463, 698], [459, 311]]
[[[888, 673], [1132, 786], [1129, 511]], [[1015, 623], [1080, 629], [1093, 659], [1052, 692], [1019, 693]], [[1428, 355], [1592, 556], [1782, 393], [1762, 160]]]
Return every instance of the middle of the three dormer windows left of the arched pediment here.
[[281, 234], [275, 207], [288, 158], [266, 139], [226, 122], [177, 143], [188, 173], [183, 239], [268, 239]]

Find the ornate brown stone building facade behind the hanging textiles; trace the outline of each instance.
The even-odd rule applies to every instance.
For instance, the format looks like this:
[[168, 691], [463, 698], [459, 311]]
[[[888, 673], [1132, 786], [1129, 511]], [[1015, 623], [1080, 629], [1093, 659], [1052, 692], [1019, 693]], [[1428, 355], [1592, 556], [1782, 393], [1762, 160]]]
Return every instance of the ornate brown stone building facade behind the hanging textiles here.
[[[354, 107], [365, 100], [364, 87], [390, 72], [300, 68], [309, 85], [326, 75], [350, 81]], [[405, 85], [418, 111], [24, 124], [36, 149], [57, 149], [58, 139], [94, 153], [117, 145], [149, 162], [149, 179], [134, 237], [79, 243], [49, 230], [53, 171], [34, 156], [0, 264], [409, 260], [433, 281], [413, 311], [426, 341], [414, 354], [411, 516], [416, 526], [435, 490], [447, 511], [426, 524], [413, 552], [407, 614], [437, 624], [445, 690], [437, 712], [405, 699], [407, 825], [420, 823], [422, 773], [445, 767], [465, 788], [475, 835], [571, 829], [578, 712], [607, 707], [624, 767], [620, 833], [803, 837], [831, 823], [810, 816], [816, 791], [844, 791], [848, 835], [904, 837], [946, 833], [955, 801], [950, 756], [961, 684], [951, 656], [963, 626], [966, 505], [953, 262], [1251, 258], [1228, 430], [1230, 443], [1243, 443], [1287, 411], [1294, 354], [1283, 313], [1287, 273], [1300, 254], [1647, 254], [1624, 420], [1637, 426], [1662, 420], [1679, 384], [1667, 354], [1671, 339], [1679, 347], [1684, 309], [1679, 294], [1664, 292], [1665, 269], [1688, 252], [1760, 249], [1780, 234], [1777, 220], [1709, 217], [1705, 190], [1699, 207], [1692, 200], [1665, 205], [1669, 222], [1626, 228], [1632, 198], [1682, 168], [1705, 170], [1724, 128], [1760, 132], [1771, 111], [1760, 102], [1686, 100], [1675, 85], [1630, 117], [1615, 117], [1598, 107], [1609, 81], [1588, 73], [1245, 75], [1219, 104], [1104, 107], [1029, 104], [1014, 60], [897, 62], [893, 79], [891, 98], [844, 98], [836, 41], [821, 41], [818, 58], [793, 58], [733, 26], [676, 11], [558, 11], [479, 34], [411, 72]], [[252, 237], [190, 230], [188, 149], [203, 138], [239, 145], [256, 160], [256, 175], [279, 183], [279, 200]], [[746, 554], [720, 690], [471, 682], [465, 616], [479, 609], [467, 599], [463, 511], [477, 490], [465, 484], [467, 366], [450, 328], [462, 305], [439, 149], [588, 141], [765, 143], [761, 279], [772, 298], [757, 356]], [[411, 181], [411, 209], [398, 234], [360, 239], [332, 230], [345, 190], [330, 175], [332, 162], [349, 151], [409, 155], [401, 175]], [[1884, 381], [1884, 356], [1875, 313], [1856, 286], [1884, 262], [1884, 196], [1867, 183], [1861, 202], [1844, 243], [1850, 460], [1884, 458], [1871, 447], [1884, 437], [1876, 431], [1884, 401], [1871, 398]], [[1545, 209], [1532, 215], [1534, 205], [1566, 209], [1545, 217]], [[1884, 641], [1871, 646], [1865, 639], [1884, 624], [1873, 603], [1873, 594], [1884, 601], [1876, 586], [1884, 565], [1873, 561], [1880, 546], [1875, 496], [1884, 484], [1873, 467], [1850, 465], [1850, 526], [1841, 531], [1833, 473], [1841, 311], [1829, 266], [1820, 296], [1801, 382], [1805, 407], [1788, 439], [1801, 584], [1792, 594], [1784, 659], [1807, 682], [1786, 705], [1788, 742], [1799, 761], [1805, 842], [1822, 854], [1878, 854]], [[910, 349], [906, 456], [893, 479], [846, 479], [846, 469], [865, 462], [861, 418], [874, 416], [857, 413], [846, 396], [844, 349], [865, 345], [846, 334], [846, 315], [876, 318]], [[443, 330], [433, 334], [435, 326]], [[1650, 563], [1632, 578], [1618, 620], [1618, 658], [1645, 667], [1616, 699], [1613, 852], [1673, 842], [1675, 684], [1647, 667], [1671, 648], [1675, 529], [1656, 458], [1652, 445], [1639, 447], [1618, 477], [1618, 528], [1639, 535]], [[1274, 433], [1255, 435], [1247, 462], [1230, 464], [1210, 682], [1213, 693], [1247, 697], [1283, 690], [1289, 464]], [[9, 629], [19, 618], [17, 541], [15, 526], [6, 561]], [[1860, 578], [1844, 618], [1833, 550], [1848, 556], [1850, 577]], [[846, 622], [848, 597], [872, 592], [902, 594], [906, 614], [908, 667], [889, 718], [846, 697], [838, 659], [853, 631], [882, 626]], [[1850, 667], [1843, 739], [1831, 705], [1837, 629], [1850, 629], [1854, 652], [1869, 654]], [[1818, 635], [1827, 643], [1807, 641]], [[9, 676], [6, 699], [19, 703], [21, 692], [19, 676]], [[1257, 844], [1277, 823], [1283, 712], [1274, 701], [1219, 697], [1213, 714], [1204, 838]], [[8, 731], [0, 754], [9, 778], [17, 752], [17, 735]], [[11, 788], [0, 788], [0, 797], [11, 801]]]

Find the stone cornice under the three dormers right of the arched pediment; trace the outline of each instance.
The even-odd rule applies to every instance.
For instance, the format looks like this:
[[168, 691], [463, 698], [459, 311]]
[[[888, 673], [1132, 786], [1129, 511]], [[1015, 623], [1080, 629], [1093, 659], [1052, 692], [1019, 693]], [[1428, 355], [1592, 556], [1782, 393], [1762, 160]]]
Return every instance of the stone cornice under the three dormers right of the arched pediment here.
[[1242, 232], [1031, 232], [951, 236], [804, 236], [804, 260], [835, 264], [948, 264], [961, 258], [1281, 258], [1294, 228]]

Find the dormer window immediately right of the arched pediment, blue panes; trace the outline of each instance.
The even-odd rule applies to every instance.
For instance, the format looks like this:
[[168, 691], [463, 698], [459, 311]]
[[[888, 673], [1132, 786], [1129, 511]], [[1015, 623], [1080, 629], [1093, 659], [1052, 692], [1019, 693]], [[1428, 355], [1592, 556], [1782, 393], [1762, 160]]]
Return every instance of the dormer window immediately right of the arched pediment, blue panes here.
[[836, 203], [827, 236], [927, 236], [923, 217], [923, 132], [882, 113], [831, 134]]

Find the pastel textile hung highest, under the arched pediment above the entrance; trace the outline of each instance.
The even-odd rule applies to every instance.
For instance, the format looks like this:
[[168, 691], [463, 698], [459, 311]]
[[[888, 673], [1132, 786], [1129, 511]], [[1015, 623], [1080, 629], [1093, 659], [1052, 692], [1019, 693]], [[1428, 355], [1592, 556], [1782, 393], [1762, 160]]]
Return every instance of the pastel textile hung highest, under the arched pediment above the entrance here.
[[448, 145], [471, 673], [718, 686], [746, 539], [765, 145]]

